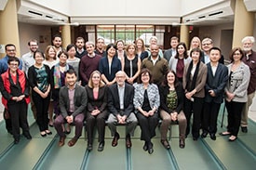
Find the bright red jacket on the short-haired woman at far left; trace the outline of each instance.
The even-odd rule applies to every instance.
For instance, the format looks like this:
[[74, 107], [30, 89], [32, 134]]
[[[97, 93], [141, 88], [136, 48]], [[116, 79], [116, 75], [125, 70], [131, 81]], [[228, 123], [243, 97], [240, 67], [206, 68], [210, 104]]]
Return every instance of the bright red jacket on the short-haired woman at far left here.
[[[26, 75], [23, 71], [20, 71], [19, 69], [17, 70], [17, 73], [19, 75], [21, 93], [26, 96], [25, 101], [28, 104], [30, 102], [30, 98], [29, 98], [29, 86], [26, 85], [28, 84], [26, 81]], [[1, 87], [2, 103], [5, 106], [5, 108], [7, 108], [7, 101], [12, 98], [12, 95], [10, 95], [9, 69], [7, 70], [7, 72], [4, 72], [1, 74], [1, 78], [2, 78], [2, 85], [4, 87], [4, 89], [3, 87]], [[4, 94], [5, 92], [7, 92], [6, 95]]]

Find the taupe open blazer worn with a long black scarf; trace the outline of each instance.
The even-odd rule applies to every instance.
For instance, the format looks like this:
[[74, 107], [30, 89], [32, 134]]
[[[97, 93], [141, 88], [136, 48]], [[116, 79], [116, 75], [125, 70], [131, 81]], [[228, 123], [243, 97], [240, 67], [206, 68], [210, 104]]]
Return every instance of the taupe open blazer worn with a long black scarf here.
[[[193, 61], [191, 61], [193, 62]], [[200, 62], [200, 61], [199, 61]], [[187, 70], [189, 67], [190, 63], [187, 63], [184, 67], [184, 72], [183, 72], [183, 89], [186, 91], [186, 84], [187, 84], [187, 78], [186, 78], [186, 74], [187, 74]], [[197, 74], [197, 78], [196, 78], [196, 82], [195, 82], [195, 89], [196, 89], [196, 93], [195, 95], [193, 95], [193, 97], [196, 98], [205, 98], [205, 85], [206, 85], [206, 81], [207, 81], [207, 66], [203, 63], [200, 62], [199, 63], [199, 71]]]

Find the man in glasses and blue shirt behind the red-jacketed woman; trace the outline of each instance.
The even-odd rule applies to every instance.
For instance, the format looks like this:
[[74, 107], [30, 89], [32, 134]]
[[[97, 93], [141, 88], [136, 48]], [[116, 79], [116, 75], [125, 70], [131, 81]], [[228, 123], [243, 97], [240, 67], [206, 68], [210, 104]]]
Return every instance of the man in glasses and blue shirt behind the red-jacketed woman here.
[[[16, 57], [16, 46], [12, 45], [12, 44], [7, 44], [5, 46], [6, 49], [6, 57], [3, 59], [0, 59], [0, 74], [7, 72], [8, 69], [8, 59], [12, 58], [12, 57]], [[20, 59], [19, 59], [20, 60]], [[22, 61], [20, 60], [20, 64], [19, 64], [19, 69], [22, 69]], [[4, 118], [6, 121], [6, 128], [7, 128], [7, 132], [9, 134], [12, 134], [12, 126], [11, 126], [11, 119], [9, 117], [7, 108], [5, 108], [4, 111]]]

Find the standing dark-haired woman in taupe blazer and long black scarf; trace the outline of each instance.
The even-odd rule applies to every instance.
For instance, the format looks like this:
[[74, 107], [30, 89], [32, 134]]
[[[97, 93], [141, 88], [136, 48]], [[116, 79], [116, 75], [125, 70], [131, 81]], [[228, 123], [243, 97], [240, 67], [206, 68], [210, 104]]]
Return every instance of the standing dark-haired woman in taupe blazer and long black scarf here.
[[200, 61], [201, 56], [202, 53], [199, 48], [192, 49], [192, 61], [185, 65], [182, 84], [185, 92], [184, 113], [187, 119], [186, 136], [190, 131], [190, 118], [193, 112], [192, 136], [194, 140], [197, 140], [199, 137], [201, 112], [204, 104], [207, 80], [207, 66]]

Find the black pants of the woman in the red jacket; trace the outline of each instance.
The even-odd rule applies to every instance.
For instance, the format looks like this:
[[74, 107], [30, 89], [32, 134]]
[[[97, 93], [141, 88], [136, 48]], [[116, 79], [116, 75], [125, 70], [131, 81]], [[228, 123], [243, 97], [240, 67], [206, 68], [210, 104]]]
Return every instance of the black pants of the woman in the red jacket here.
[[20, 127], [22, 128], [23, 134], [29, 133], [29, 125], [27, 121], [27, 103], [24, 100], [20, 102], [12, 102], [11, 104], [8, 104], [7, 107], [11, 116], [13, 137], [20, 137]]

